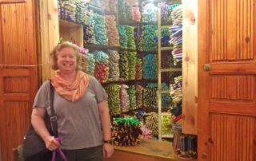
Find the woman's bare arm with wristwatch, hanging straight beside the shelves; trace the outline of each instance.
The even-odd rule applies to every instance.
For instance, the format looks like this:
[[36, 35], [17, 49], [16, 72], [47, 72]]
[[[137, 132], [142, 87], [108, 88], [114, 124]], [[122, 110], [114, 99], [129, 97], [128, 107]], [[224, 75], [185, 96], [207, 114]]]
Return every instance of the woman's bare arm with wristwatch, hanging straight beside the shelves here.
[[[109, 108], [106, 105], [106, 100], [98, 104], [100, 118], [102, 120], [103, 139], [111, 140], [111, 123]], [[114, 152], [114, 148], [110, 143], [103, 143], [103, 155], [109, 158]]]

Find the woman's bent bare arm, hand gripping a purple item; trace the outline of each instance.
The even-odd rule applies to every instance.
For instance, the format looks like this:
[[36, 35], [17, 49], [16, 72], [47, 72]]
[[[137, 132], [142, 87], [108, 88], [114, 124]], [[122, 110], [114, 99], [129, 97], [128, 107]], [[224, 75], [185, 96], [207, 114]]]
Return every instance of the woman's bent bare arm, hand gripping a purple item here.
[[45, 114], [46, 108], [33, 108], [31, 115], [31, 124], [35, 132], [37, 132], [38, 135], [40, 135], [46, 143], [46, 148], [48, 148], [50, 151], [54, 151], [59, 146], [59, 143], [57, 140], [54, 139], [54, 136], [50, 135], [46, 128], [45, 121], [43, 120]]

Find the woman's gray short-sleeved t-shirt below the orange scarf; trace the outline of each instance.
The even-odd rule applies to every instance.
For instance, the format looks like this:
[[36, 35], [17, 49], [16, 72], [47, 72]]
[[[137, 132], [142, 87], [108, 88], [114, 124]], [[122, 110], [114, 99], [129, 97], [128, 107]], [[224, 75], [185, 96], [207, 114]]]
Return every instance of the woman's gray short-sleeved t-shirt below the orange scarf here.
[[[39, 88], [33, 108], [46, 108], [50, 115], [50, 81]], [[70, 102], [54, 93], [54, 110], [58, 117], [58, 135], [62, 136], [62, 149], [82, 149], [102, 145], [102, 126], [98, 103], [106, 100], [102, 85], [90, 76], [85, 95]]]

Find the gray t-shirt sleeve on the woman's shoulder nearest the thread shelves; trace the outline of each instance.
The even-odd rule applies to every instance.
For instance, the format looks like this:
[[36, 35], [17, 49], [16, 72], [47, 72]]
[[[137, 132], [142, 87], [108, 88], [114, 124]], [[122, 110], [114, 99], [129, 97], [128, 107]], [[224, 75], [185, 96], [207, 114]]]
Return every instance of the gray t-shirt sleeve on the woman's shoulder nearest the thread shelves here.
[[101, 103], [103, 100], [106, 100], [107, 95], [105, 89], [102, 87], [102, 84], [100, 84], [98, 80], [92, 76], [90, 76], [90, 81], [96, 95], [97, 103]]

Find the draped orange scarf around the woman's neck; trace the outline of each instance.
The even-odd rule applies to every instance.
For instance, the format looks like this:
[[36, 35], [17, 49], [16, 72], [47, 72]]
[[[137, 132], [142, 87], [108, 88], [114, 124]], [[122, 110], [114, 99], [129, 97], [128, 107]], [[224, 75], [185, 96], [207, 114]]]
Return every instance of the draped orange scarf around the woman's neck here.
[[73, 82], [66, 81], [60, 77], [59, 71], [51, 79], [51, 84], [53, 84], [56, 92], [71, 102], [75, 102], [84, 96], [89, 82], [90, 76], [82, 71], [77, 72]]

